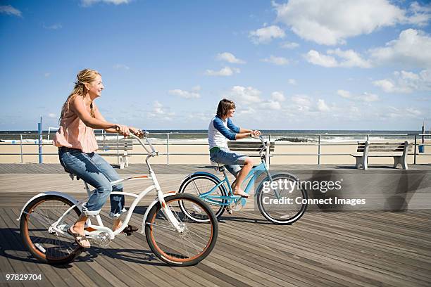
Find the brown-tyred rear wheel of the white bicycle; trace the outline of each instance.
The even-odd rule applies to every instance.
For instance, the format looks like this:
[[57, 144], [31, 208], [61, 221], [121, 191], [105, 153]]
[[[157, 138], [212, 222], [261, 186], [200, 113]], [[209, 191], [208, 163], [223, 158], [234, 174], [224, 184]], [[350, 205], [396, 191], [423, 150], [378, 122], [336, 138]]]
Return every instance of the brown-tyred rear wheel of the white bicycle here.
[[[20, 221], [20, 234], [25, 247], [38, 260], [49, 264], [67, 264], [82, 252], [71, 236], [62, 236], [50, 228], [71, 206], [73, 203], [70, 200], [47, 195], [35, 198], [25, 208]], [[70, 210], [58, 222], [58, 229], [67, 232], [80, 214], [77, 207]]]

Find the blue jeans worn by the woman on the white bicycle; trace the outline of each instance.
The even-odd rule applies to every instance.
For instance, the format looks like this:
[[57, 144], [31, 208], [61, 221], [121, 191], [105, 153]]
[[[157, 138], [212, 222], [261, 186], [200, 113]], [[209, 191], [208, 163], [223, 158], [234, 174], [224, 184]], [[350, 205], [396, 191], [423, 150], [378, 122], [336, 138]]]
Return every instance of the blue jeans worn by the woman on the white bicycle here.
[[[82, 153], [77, 149], [59, 149], [58, 156], [66, 169], [96, 189], [87, 202], [82, 205], [82, 212], [85, 215], [98, 215], [111, 191], [123, 191], [123, 184], [111, 185], [111, 181], [120, 179], [120, 176], [99, 154]], [[111, 195], [111, 213], [109, 216], [112, 218], [120, 217], [121, 213], [127, 211], [124, 204], [124, 196]]]

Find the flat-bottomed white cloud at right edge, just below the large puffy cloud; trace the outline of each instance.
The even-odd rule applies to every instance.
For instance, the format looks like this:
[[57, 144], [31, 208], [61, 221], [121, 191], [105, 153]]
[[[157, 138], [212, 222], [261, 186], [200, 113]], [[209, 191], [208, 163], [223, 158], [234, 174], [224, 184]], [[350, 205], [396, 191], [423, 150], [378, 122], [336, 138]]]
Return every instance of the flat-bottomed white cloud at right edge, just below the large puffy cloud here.
[[373, 84], [387, 93], [413, 93], [431, 91], [431, 69], [414, 72], [394, 72], [392, 79], [379, 79]]

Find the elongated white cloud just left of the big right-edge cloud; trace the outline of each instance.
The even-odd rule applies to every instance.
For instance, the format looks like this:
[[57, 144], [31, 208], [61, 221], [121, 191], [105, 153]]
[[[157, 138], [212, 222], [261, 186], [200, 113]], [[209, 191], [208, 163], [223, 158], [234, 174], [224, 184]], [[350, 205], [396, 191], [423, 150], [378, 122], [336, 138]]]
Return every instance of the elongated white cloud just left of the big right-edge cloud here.
[[[321, 65], [327, 68], [371, 68], [369, 60], [364, 60], [358, 53], [353, 50], [342, 51], [341, 49], [328, 50], [327, 54], [323, 55], [316, 50], [311, 50], [306, 53], [305, 58], [308, 63]], [[337, 58], [335, 58], [337, 56]]]

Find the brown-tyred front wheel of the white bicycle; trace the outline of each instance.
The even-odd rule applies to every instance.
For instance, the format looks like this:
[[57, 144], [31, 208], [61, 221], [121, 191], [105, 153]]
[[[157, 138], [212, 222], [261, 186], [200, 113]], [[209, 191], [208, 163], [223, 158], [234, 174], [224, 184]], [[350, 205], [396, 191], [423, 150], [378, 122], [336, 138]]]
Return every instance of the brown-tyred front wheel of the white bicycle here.
[[[193, 217], [206, 217], [208, 222], [196, 222], [179, 208], [179, 201]], [[204, 260], [213, 250], [218, 235], [217, 219], [203, 200], [187, 193], [177, 193], [165, 198], [184, 231], [179, 233], [165, 217], [161, 204], [149, 211], [145, 222], [146, 241], [153, 253], [170, 265], [189, 266]]]

